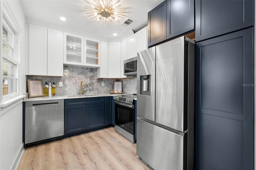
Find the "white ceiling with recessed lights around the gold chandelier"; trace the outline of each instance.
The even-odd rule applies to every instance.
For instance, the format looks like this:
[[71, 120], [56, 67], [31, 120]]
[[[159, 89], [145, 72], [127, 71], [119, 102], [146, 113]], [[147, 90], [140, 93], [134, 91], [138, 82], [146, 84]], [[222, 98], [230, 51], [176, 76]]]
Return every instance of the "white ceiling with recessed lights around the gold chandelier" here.
[[[148, 12], [163, 0], [120, 0], [118, 3], [126, 9], [126, 17], [134, 20], [129, 26], [122, 26], [119, 22], [97, 22], [91, 19], [88, 10], [84, 9], [87, 3], [84, 0], [20, 0], [24, 14], [34, 18], [66, 28], [86, 32], [104, 37], [119, 38], [129, 30], [137, 32], [148, 24]], [[64, 16], [66, 21], [61, 21]], [[122, 20], [123, 21], [123, 20]], [[113, 36], [116, 33], [117, 36]]]

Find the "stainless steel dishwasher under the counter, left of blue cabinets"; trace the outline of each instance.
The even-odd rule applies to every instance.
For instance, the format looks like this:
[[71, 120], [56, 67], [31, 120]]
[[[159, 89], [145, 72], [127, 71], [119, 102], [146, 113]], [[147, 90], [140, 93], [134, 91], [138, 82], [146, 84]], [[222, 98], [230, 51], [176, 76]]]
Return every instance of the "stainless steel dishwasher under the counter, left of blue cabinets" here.
[[25, 148], [63, 138], [64, 100], [29, 101], [25, 105]]

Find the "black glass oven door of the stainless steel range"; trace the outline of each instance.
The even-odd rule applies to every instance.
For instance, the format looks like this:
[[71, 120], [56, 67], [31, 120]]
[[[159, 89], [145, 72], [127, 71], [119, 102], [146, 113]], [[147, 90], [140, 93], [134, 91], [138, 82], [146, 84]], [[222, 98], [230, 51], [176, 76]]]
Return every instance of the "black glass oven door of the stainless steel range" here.
[[115, 102], [115, 124], [134, 134], [134, 105]]

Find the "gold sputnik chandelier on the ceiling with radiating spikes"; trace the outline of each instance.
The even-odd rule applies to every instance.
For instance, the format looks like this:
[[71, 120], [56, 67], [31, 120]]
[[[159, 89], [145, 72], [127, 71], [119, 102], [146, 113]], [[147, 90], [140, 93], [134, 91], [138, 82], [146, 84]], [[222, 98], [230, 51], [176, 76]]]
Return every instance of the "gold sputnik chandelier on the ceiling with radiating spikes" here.
[[[120, 18], [124, 18], [125, 9], [120, 5], [117, 5], [120, 0], [84, 0], [89, 6], [89, 17], [96, 18], [98, 21], [102, 20], [106, 22], [114, 20], [118, 21]], [[119, 21], [118, 21], [119, 22]]]

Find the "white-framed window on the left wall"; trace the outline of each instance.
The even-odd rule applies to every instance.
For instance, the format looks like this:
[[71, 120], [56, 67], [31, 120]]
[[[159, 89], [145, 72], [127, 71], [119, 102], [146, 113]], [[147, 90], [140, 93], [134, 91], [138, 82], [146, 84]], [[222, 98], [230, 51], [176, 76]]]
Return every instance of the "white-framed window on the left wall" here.
[[2, 22], [2, 99], [18, 96], [18, 55], [16, 34], [3, 17]]

